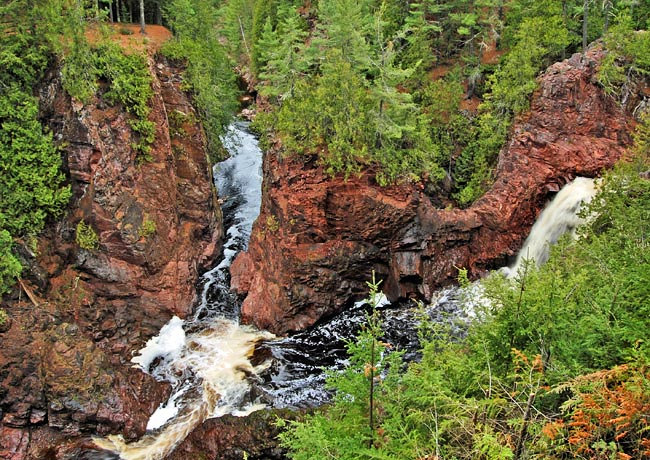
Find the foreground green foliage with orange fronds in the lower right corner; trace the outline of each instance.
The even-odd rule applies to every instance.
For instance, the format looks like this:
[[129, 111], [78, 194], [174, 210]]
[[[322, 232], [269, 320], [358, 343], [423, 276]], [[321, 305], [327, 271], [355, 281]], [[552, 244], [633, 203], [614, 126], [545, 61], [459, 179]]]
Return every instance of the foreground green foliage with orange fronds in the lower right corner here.
[[[363, 370], [380, 334], [371, 321], [349, 346], [349, 368], [328, 380], [333, 403], [286, 426], [290, 457], [639, 458], [650, 445], [648, 125], [633, 161], [603, 179], [577, 241], [561, 241], [546, 265], [514, 280], [484, 281], [466, 338], [420, 328], [421, 361], [381, 374], [369, 435]], [[459, 279], [468, 286], [465, 270]]]

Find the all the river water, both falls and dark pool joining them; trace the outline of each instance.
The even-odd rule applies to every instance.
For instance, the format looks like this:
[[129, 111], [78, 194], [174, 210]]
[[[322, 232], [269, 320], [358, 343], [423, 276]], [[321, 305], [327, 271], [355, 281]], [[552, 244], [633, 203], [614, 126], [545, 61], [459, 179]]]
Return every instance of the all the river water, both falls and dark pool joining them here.
[[[158, 380], [172, 385], [172, 396], [150, 417], [148, 433], [126, 443], [121, 436], [95, 439], [98, 447], [127, 460], [163, 459], [204, 420], [226, 414], [247, 415], [266, 407], [251, 397], [265, 394], [274, 407], [309, 407], [326, 402], [323, 368], [346, 363], [345, 343], [365, 321], [362, 303], [312, 330], [282, 340], [238, 322], [239, 305], [229, 290], [228, 269], [247, 245], [261, 201], [261, 151], [246, 126], [234, 124], [224, 139], [231, 158], [215, 167], [222, 197], [227, 241], [224, 258], [204, 275], [201, 302], [194, 318], [174, 317], [140, 350], [132, 362]], [[504, 271], [512, 276], [524, 259], [538, 265], [548, 258], [549, 244], [582, 222], [580, 206], [594, 196], [592, 179], [578, 178], [565, 186], [535, 223], [516, 263]], [[480, 284], [440, 291], [428, 309], [436, 322], [448, 322], [464, 334], [473, 317], [473, 302], [481, 303]], [[416, 358], [418, 322], [414, 309], [382, 311], [387, 340]], [[461, 321], [458, 321], [461, 320]], [[391, 327], [396, 324], [396, 327]], [[412, 327], [404, 327], [410, 324]], [[270, 359], [254, 366], [250, 358], [266, 348]]]

